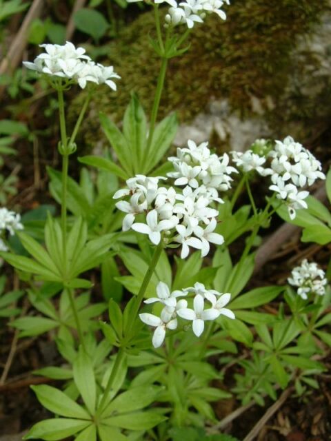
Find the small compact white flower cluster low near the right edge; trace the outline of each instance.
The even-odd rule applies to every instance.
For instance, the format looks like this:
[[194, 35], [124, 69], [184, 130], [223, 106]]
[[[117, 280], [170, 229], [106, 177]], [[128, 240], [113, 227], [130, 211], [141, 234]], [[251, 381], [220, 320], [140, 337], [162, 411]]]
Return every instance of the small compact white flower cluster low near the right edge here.
[[317, 267], [317, 263], [308, 263], [308, 260], [304, 259], [299, 267], [292, 270], [288, 283], [298, 287], [297, 293], [306, 300], [310, 293], [324, 296], [328, 280], [325, 278], [323, 269]]

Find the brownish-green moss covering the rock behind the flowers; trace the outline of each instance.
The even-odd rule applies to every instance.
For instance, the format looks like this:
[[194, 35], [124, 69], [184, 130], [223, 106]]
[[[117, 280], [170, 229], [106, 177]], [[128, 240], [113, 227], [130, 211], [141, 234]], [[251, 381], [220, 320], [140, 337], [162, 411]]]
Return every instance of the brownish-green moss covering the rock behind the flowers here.
[[[179, 121], [190, 121], [211, 99], [223, 97], [242, 114], [250, 112], [252, 95], [277, 101], [297, 38], [308, 33], [327, 9], [328, 0], [233, 0], [226, 21], [216, 14], [208, 17], [194, 28], [185, 56], [170, 60], [159, 117], [177, 110]], [[132, 90], [150, 111], [160, 62], [148, 35], [154, 36], [151, 11], [141, 14], [110, 43], [105, 63], [113, 64], [121, 75], [119, 90], [114, 94], [100, 89], [93, 107], [115, 121], [121, 121]], [[73, 113], [80, 103], [81, 97], [74, 101]], [[91, 133], [99, 123], [93, 117], [89, 125]]]

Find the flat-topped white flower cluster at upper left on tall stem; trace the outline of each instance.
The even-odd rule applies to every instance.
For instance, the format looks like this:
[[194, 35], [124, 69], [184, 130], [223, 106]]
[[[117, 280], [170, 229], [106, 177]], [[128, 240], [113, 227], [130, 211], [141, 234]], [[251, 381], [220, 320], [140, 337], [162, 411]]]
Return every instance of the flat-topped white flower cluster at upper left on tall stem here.
[[82, 89], [86, 87], [88, 81], [95, 84], [105, 83], [112, 90], [117, 89], [112, 79], [121, 77], [114, 72], [114, 68], [94, 63], [88, 55], [85, 55], [85, 49], [75, 48], [70, 41], [65, 45], [41, 44], [40, 46], [45, 48], [45, 52], [38, 55], [33, 63], [23, 61], [26, 68], [74, 81]]

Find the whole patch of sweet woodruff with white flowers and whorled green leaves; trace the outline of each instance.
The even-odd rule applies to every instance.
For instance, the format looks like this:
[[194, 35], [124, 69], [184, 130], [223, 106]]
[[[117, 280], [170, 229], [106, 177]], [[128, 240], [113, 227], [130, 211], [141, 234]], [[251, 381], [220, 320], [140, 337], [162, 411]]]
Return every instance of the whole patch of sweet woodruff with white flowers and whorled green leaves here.
[[[161, 60], [154, 105], [148, 120], [132, 94], [122, 132], [101, 114], [110, 156], [79, 158], [97, 168], [96, 183], [87, 169], [81, 183], [75, 183], [68, 174], [68, 157], [79, 152], [77, 133], [93, 91], [108, 86], [115, 92], [120, 76], [70, 42], [41, 45], [41, 54], [24, 62], [57, 91], [62, 170], [50, 169], [49, 174], [61, 218], [48, 216], [41, 244], [19, 231], [18, 214], [2, 209], [1, 230], [16, 232], [30, 257], [14, 254], [5, 234], [1, 256], [24, 274], [30, 302], [43, 315], [14, 320], [13, 326], [22, 336], [53, 329], [67, 362], [66, 367], [38, 371], [66, 384], [63, 390], [33, 387], [57, 417], [35, 424], [26, 439], [74, 435], [77, 441], [161, 441], [185, 426], [208, 426], [212, 433], [216, 419], [208, 403], [228, 398], [230, 391], [212, 386], [221, 373], [208, 363], [210, 355], [219, 358], [217, 366], [225, 352], [225, 363], [230, 359], [240, 365], [233, 390], [238, 399], [263, 404], [266, 395], [276, 399], [277, 389], [290, 382], [299, 392], [303, 384], [314, 387], [312, 376], [323, 365], [311, 356], [317, 345], [331, 343], [321, 329], [329, 320], [330, 289], [316, 263], [304, 260], [292, 271], [288, 280], [297, 293], [282, 286], [245, 289], [259, 230], [269, 226], [275, 212], [289, 221], [300, 216], [302, 222], [305, 212], [316, 219], [323, 212], [322, 219], [328, 218], [325, 207], [316, 203], [311, 214], [313, 198], [307, 189], [325, 179], [321, 163], [290, 136], [275, 142], [260, 139], [245, 152], [221, 156], [207, 141], [197, 145], [188, 140], [176, 156], [163, 161], [177, 131], [174, 114], [157, 121], [168, 60], [185, 55], [190, 32], [208, 14], [225, 19], [228, 1], [146, 3], [155, 11], [151, 44]], [[163, 22], [161, 3], [168, 8]], [[64, 96], [75, 85], [88, 95], [68, 134]], [[270, 192], [262, 208], [252, 192], [254, 176], [268, 180]], [[237, 208], [244, 189], [250, 205]], [[242, 237], [241, 258], [232, 263], [228, 245]], [[203, 258], [208, 258], [205, 266]], [[119, 259], [129, 276], [119, 271]], [[97, 267], [107, 304], [90, 305], [93, 285], [86, 271]], [[122, 286], [130, 294], [127, 301], [118, 294]], [[279, 314], [261, 310], [281, 295], [286, 306]], [[59, 301], [53, 304], [55, 296]], [[109, 320], [95, 320], [106, 307]], [[246, 363], [237, 360], [237, 342], [249, 348]], [[263, 381], [254, 382], [258, 373]]]

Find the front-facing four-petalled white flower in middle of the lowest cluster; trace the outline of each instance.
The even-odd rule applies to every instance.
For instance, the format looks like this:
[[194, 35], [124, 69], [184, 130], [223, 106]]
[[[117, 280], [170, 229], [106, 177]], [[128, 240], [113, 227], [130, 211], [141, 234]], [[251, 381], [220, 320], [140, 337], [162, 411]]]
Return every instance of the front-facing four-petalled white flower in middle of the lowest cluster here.
[[197, 295], [193, 300], [193, 308], [183, 308], [177, 311], [177, 314], [181, 318], [186, 320], [192, 320], [192, 329], [194, 334], [199, 337], [203, 333], [205, 327], [205, 320], [214, 320], [219, 316], [219, 311], [214, 308], [203, 309], [204, 302], [203, 297]]

